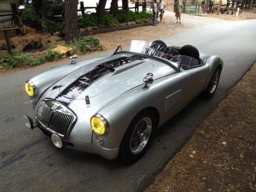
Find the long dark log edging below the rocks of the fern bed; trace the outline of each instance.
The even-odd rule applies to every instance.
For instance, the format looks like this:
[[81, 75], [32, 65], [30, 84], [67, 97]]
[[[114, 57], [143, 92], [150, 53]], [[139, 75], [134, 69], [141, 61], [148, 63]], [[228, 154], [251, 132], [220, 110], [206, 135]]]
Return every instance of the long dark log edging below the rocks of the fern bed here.
[[[159, 21], [156, 22], [156, 24], [157, 23], [159, 23]], [[96, 29], [96, 30], [90, 30], [90, 31], [86, 31], [86, 32], [79, 32], [78, 34], [80, 35], [80, 37], [84, 37], [84, 36], [88, 36], [90, 32], [92, 33], [92, 35], [94, 35], [94, 34], [98, 34], [98, 33], [114, 32], [114, 31], [132, 29], [132, 28], [136, 28], [136, 27], [144, 27], [144, 26], [149, 26], [149, 25], [153, 25], [153, 23], [148, 22], [148, 23], [139, 23], [139, 24], [134, 24], [134, 25]]]

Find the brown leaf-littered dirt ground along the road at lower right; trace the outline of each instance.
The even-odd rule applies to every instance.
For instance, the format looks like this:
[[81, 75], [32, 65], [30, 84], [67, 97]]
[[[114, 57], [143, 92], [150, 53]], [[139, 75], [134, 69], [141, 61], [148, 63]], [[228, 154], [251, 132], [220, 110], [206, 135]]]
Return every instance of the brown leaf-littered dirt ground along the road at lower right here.
[[145, 192], [256, 191], [256, 64]]

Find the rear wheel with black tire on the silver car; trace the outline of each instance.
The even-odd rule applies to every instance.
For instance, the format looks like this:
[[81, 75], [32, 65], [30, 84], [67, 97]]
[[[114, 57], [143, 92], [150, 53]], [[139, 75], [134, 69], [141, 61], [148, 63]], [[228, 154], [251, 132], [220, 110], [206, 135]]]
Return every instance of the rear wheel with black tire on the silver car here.
[[203, 91], [203, 95], [207, 98], [210, 99], [213, 97], [215, 91], [217, 90], [217, 87], [219, 85], [219, 78], [220, 78], [220, 73], [221, 69], [218, 67], [211, 78], [211, 80], [208, 83], [207, 88]]

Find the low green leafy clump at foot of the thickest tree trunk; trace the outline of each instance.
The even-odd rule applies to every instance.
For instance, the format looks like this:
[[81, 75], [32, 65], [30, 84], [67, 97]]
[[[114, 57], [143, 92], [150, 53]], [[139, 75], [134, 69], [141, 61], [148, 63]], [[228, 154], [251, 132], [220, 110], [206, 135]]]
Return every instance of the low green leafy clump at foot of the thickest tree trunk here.
[[73, 41], [69, 41], [67, 45], [73, 47], [78, 53], [103, 50], [103, 46], [100, 41], [92, 36], [86, 36], [80, 40], [74, 39]]

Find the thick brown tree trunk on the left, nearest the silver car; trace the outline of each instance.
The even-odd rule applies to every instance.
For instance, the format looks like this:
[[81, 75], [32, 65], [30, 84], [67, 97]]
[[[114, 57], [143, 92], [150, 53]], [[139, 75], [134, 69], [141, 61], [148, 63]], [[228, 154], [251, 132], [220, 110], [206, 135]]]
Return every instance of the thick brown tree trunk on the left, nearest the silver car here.
[[77, 38], [77, 0], [66, 0], [65, 3], [65, 41]]

